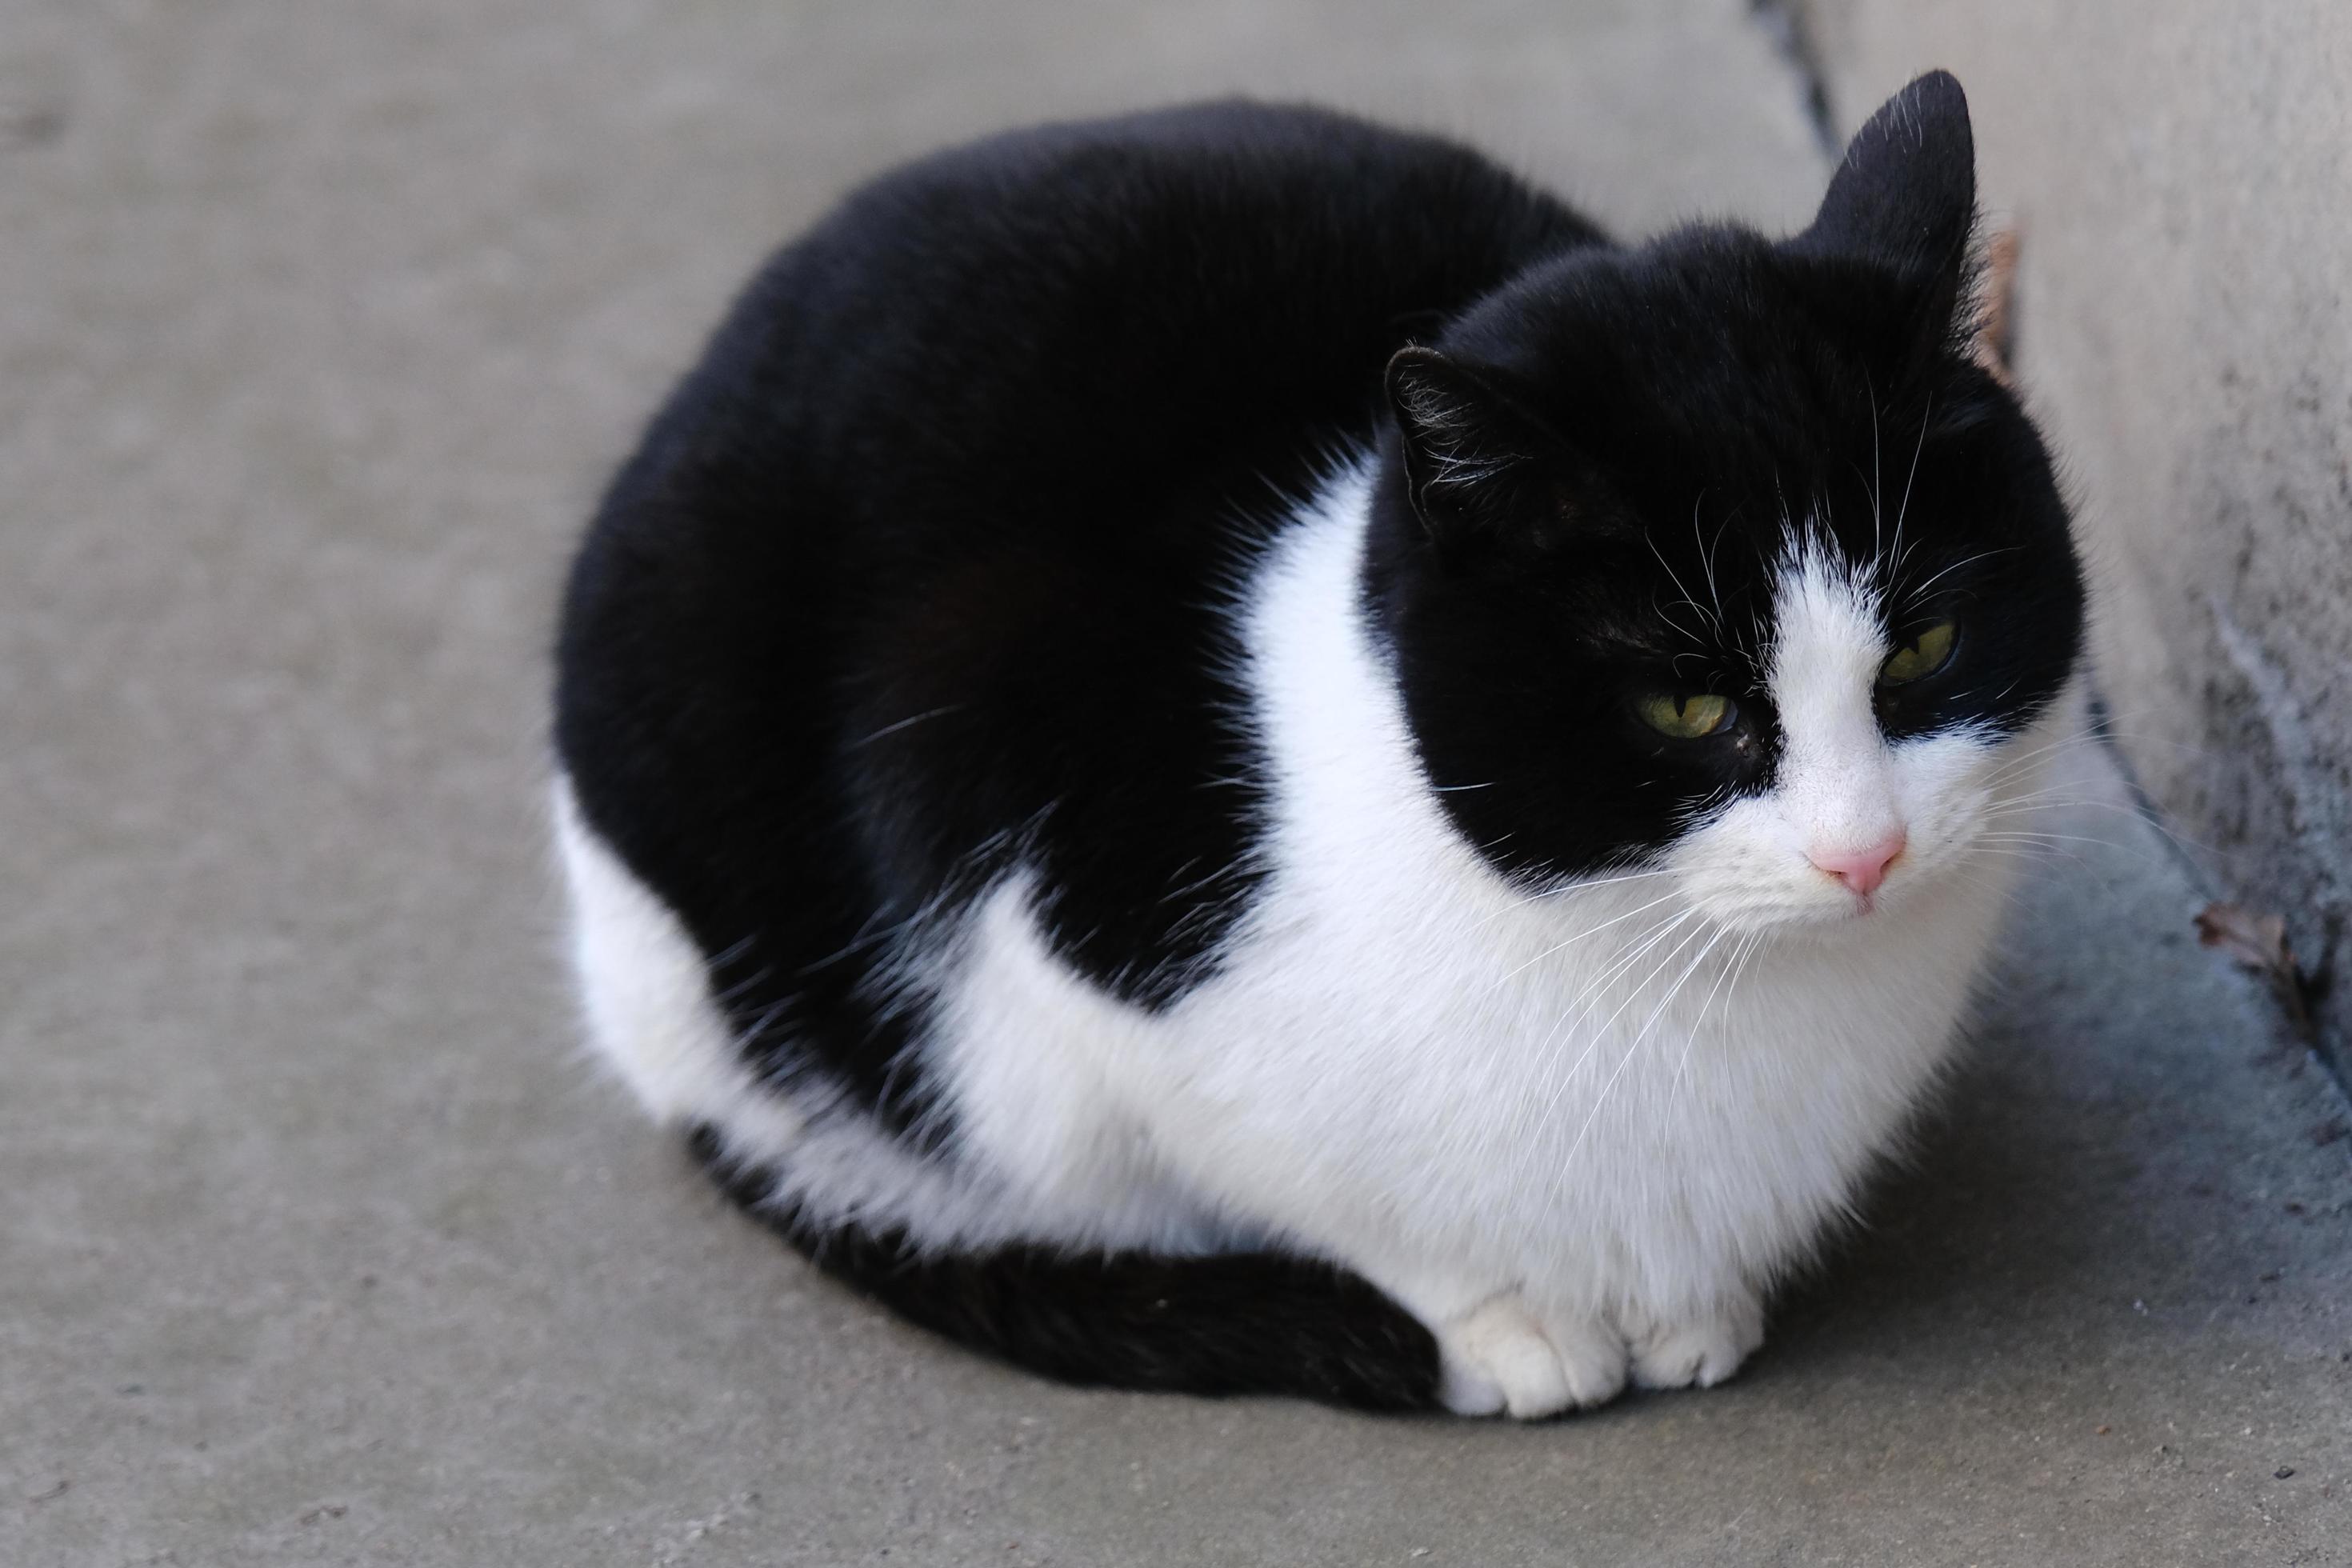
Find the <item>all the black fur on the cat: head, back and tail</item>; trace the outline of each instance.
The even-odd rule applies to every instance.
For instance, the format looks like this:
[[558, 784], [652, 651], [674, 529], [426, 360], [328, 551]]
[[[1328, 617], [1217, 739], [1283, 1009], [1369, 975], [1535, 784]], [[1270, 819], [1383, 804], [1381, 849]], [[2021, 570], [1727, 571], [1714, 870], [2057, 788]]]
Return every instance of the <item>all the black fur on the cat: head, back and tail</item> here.
[[[1378, 458], [1369, 623], [1508, 872], [1637, 860], [1771, 783], [1790, 517], [1856, 562], [1900, 524], [1891, 630], [1962, 621], [1891, 733], [2013, 729], [2082, 588], [2032, 425], [1957, 353], [1971, 160], [1938, 75], [1778, 244], [1613, 247], [1463, 148], [1249, 103], [889, 174], [750, 284], [590, 527], [557, 651], [583, 816], [684, 919], [755, 1067], [950, 1147], [894, 938], [1018, 863], [1112, 994], [1214, 973], [1265, 790], [1230, 597], [1338, 461]], [[1738, 722], [1668, 743], [1653, 691], [1736, 693]], [[1428, 1333], [1319, 1262], [915, 1255], [767, 1218], [1075, 1382], [1432, 1399]]]

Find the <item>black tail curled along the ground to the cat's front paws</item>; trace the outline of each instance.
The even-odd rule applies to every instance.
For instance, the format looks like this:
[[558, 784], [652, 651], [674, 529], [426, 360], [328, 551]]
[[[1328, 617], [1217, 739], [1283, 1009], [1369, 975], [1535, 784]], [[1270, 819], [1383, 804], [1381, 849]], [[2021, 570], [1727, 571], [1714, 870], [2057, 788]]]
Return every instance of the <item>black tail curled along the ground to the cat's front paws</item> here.
[[767, 1204], [774, 1173], [710, 1128], [694, 1154], [748, 1213], [898, 1316], [1061, 1382], [1291, 1394], [1359, 1410], [1437, 1408], [1437, 1340], [1397, 1302], [1284, 1253], [1073, 1255], [1042, 1246], [922, 1255], [898, 1232], [816, 1227]]

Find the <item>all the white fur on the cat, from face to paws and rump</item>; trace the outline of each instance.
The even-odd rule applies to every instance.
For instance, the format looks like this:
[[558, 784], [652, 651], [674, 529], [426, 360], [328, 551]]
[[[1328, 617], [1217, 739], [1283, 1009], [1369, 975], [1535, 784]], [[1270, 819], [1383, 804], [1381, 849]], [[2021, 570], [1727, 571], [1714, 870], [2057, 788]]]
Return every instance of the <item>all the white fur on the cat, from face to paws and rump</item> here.
[[[1976, 835], [2032, 788], [2044, 736], [1886, 745], [1870, 590], [1797, 552], [1783, 783], [1653, 872], [1512, 886], [1439, 809], [1367, 639], [1364, 508], [1364, 475], [1336, 480], [1240, 609], [1270, 872], [1178, 1004], [1089, 985], [1030, 877], [1000, 882], [906, 952], [957, 1128], [915, 1157], [750, 1081], [684, 931], [557, 785], [590, 1032], [656, 1114], [790, 1152], [779, 1201], [931, 1246], [1334, 1258], [1437, 1333], [1458, 1410], [1717, 1382], [1943, 1063], [2011, 865]], [[1804, 856], [1891, 827], [1910, 849], [1867, 912]]]

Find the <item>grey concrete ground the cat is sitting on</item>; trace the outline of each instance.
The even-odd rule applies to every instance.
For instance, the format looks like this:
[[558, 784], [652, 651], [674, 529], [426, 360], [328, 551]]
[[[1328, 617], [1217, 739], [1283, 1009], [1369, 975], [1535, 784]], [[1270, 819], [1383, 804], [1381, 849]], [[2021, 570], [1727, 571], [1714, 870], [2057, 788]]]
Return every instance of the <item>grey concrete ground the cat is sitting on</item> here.
[[1228, 87], [1628, 230], [1823, 179], [1738, 0], [0, 0], [0, 1561], [2352, 1561], [2343, 1105], [2122, 809], [1752, 1368], [1545, 1427], [974, 1361], [586, 1072], [541, 703], [635, 421], [861, 172]]

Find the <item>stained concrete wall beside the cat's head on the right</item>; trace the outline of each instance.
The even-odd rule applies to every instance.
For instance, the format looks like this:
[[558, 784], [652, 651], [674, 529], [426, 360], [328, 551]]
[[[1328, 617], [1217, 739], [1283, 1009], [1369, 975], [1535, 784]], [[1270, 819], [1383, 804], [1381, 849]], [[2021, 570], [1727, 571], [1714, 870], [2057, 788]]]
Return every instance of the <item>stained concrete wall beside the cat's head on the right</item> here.
[[2122, 748], [2218, 893], [2352, 985], [2352, 5], [1799, 0], [1837, 132], [1929, 66], [2016, 226], [2018, 369]]

